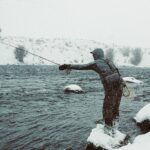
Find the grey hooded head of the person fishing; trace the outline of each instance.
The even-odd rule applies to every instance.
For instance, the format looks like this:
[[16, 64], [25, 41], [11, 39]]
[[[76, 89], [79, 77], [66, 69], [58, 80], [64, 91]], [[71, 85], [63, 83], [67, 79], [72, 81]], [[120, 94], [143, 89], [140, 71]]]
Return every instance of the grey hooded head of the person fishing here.
[[101, 48], [96, 48], [91, 52], [95, 60], [104, 58], [104, 51]]

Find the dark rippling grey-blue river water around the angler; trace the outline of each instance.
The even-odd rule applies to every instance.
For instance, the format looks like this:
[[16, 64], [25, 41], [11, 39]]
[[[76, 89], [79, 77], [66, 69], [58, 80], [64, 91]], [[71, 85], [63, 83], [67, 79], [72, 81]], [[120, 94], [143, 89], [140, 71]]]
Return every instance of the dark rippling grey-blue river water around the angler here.
[[[140, 134], [132, 118], [150, 101], [150, 69], [121, 68], [142, 85], [130, 84], [122, 98], [119, 130], [133, 139]], [[83, 94], [65, 94], [78, 84]], [[67, 75], [50, 66], [0, 66], [0, 150], [84, 150], [96, 122], [102, 119], [103, 88], [92, 71]]]

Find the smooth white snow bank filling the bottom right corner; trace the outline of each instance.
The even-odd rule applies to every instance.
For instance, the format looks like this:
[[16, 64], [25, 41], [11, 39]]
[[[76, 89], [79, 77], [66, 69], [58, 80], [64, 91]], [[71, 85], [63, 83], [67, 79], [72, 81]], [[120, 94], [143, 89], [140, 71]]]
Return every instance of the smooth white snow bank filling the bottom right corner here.
[[149, 150], [150, 149], [150, 132], [137, 136], [132, 144], [113, 150]]

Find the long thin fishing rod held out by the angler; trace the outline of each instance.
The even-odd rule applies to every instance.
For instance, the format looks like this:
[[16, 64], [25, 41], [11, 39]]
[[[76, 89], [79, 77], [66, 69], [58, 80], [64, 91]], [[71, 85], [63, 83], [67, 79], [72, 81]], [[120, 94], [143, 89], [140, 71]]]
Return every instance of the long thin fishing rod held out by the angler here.
[[58, 63], [56, 63], [56, 62], [54, 62], [54, 61], [52, 61], [52, 60], [49, 60], [49, 59], [47, 59], [47, 58], [44, 58], [44, 57], [42, 57], [42, 56], [39, 56], [39, 55], [37, 55], [37, 54], [31, 53], [30, 51], [28, 51], [28, 50], [26, 50], [26, 49], [18, 48], [18, 47], [16, 47], [16, 46], [12, 45], [12, 44], [5, 43], [5, 42], [2, 42], [2, 41], [0, 41], [0, 43], [1, 43], [1, 44], [4, 44], [4, 45], [7, 45], [7, 46], [10, 46], [10, 47], [13, 47], [13, 48], [16, 48], [16, 49], [19, 49], [19, 50], [22, 50], [22, 51], [25, 51], [25, 52], [27, 52], [27, 53], [33, 55], [33, 56], [39, 57], [39, 58], [41, 58], [41, 59], [43, 59], [43, 60], [46, 60], [46, 61], [48, 61], [48, 62], [50, 62], [50, 63], [53, 63], [53, 64], [55, 64], [55, 65], [60, 66], [60, 64], [58, 64]]

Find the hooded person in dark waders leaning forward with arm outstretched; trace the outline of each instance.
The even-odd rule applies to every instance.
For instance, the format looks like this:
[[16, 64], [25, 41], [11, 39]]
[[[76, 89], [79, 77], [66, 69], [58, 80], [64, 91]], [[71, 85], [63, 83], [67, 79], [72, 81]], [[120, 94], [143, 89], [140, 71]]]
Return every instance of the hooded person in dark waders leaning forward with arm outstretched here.
[[119, 121], [119, 105], [122, 97], [122, 78], [118, 69], [108, 59], [104, 59], [104, 52], [97, 48], [91, 52], [94, 62], [89, 64], [63, 64], [59, 70], [94, 70], [101, 78], [105, 98], [103, 103], [103, 120], [105, 133], [113, 134]]

